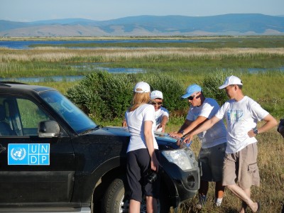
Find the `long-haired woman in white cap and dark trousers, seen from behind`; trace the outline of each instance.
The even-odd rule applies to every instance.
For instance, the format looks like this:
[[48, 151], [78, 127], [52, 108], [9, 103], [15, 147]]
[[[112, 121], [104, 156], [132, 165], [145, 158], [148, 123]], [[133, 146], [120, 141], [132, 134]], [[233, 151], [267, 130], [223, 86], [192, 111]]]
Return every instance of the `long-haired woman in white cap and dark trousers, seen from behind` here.
[[[130, 132], [127, 148], [127, 181], [129, 183], [129, 212], [140, 212], [143, 195], [147, 212], [157, 212], [160, 181], [148, 182], [149, 172], [158, 173], [158, 143], [155, 141], [155, 109], [150, 101], [150, 86], [138, 82], [134, 87], [131, 107], [125, 113]], [[143, 192], [142, 192], [143, 190]]]

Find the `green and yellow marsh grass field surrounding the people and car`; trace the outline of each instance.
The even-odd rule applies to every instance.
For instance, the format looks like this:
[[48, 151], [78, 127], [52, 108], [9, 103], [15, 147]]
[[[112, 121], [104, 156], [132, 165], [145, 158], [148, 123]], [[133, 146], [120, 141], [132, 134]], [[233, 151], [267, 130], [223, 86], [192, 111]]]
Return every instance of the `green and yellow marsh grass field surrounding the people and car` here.
[[[179, 38], [170, 38], [172, 39]], [[80, 46], [79, 49], [69, 49], [68, 45], [36, 47], [31, 50], [0, 48], [0, 77], [85, 75], [90, 71], [77, 69], [74, 65], [104, 62], [102, 66], [133, 67], [143, 68], [147, 72], [163, 72], [165, 75], [175, 77], [183, 87], [187, 87], [192, 83], [200, 84], [209, 72], [223, 70], [224, 73], [239, 76], [244, 82], [244, 94], [255, 99], [278, 121], [284, 117], [284, 72], [281, 70], [284, 67], [283, 36], [187, 39], [202, 39], [204, 42], [186, 43], [182, 46], [170, 43], [170, 40], [166, 44], [130, 43], [115, 46], [93, 44], [90, 49], [84, 49], [84, 46]], [[256, 71], [251, 72], [250, 69]], [[37, 84], [55, 87], [64, 94], [76, 83], [40, 82]], [[120, 125], [121, 119], [104, 121], [102, 124], [104, 126]], [[167, 131], [178, 130], [184, 119], [185, 115], [171, 117]], [[284, 141], [276, 132], [276, 128], [267, 133], [261, 133], [257, 137], [261, 187], [253, 187], [251, 197], [261, 202], [262, 212], [280, 212], [284, 203], [282, 158]], [[197, 138], [192, 144], [192, 149], [197, 155], [200, 149]], [[239, 211], [240, 201], [229, 190], [225, 192], [222, 207], [218, 209], [213, 207], [213, 192], [213, 185], [210, 185], [209, 200], [201, 212], [235, 213]], [[197, 198], [190, 200], [182, 204], [178, 212], [197, 212], [196, 203]]]

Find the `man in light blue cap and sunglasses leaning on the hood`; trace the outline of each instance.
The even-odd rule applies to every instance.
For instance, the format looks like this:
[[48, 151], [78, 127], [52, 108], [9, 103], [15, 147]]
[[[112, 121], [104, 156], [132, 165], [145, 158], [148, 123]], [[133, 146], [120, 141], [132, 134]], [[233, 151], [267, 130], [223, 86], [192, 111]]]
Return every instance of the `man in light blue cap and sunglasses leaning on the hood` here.
[[[214, 99], [204, 97], [202, 88], [197, 84], [187, 87], [182, 98], [188, 99], [190, 109], [180, 130], [170, 133], [170, 136], [178, 138], [182, 138], [197, 126], [203, 124], [204, 121], [211, 119], [220, 108]], [[226, 150], [226, 127], [224, 122], [219, 121], [211, 129], [203, 131], [198, 136], [202, 146], [198, 155], [201, 181], [199, 189], [200, 203], [197, 207], [201, 208], [207, 200], [209, 182], [216, 182], [215, 204], [219, 207], [224, 196], [224, 187], [222, 185], [222, 168]]]

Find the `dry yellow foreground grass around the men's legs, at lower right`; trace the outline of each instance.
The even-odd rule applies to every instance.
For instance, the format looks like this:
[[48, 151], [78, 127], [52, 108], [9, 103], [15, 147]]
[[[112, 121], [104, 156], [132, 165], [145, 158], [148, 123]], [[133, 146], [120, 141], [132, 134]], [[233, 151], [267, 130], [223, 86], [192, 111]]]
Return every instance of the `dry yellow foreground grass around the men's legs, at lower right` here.
[[[260, 122], [258, 125], [262, 125]], [[171, 126], [168, 131], [178, 130], [179, 126]], [[258, 168], [261, 175], [261, 186], [251, 187], [251, 198], [261, 202], [261, 212], [278, 213], [284, 204], [284, 138], [276, 131], [276, 127], [257, 136], [258, 139]], [[195, 137], [191, 146], [197, 156], [200, 151], [199, 139]], [[208, 201], [206, 206], [199, 211], [196, 208], [197, 196], [185, 202], [178, 209], [178, 213], [237, 213], [241, 201], [229, 190], [225, 190], [222, 207], [214, 207], [214, 184], [209, 184]], [[171, 213], [173, 211], [170, 211]], [[248, 209], [246, 212], [251, 212]]]

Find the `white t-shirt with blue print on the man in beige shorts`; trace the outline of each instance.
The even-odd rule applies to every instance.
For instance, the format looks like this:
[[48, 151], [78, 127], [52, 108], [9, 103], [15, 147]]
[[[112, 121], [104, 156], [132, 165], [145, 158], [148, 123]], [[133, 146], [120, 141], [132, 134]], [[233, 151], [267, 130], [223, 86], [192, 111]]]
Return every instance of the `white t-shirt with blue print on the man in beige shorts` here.
[[223, 119], [224, 116], [226, 118], [226, 153], [236, 153], [249, 144], [256, 143], [256, 138], [250, 138], [248, 132], [268, 114], [268, 111], [247, 96], [239, 102], [234, 99], [225, 102], [215, 116], [218, 119]]

